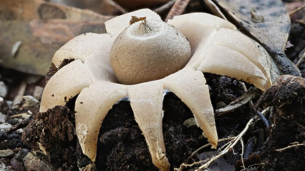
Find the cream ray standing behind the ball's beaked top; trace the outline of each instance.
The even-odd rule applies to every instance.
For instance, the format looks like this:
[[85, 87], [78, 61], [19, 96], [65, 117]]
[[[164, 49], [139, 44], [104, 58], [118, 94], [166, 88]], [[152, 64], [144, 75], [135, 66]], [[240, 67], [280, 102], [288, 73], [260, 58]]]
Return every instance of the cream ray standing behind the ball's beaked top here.
[[137, 11], [129, 12], [127, 14], [123, 14], [117, 16], [113, 19], [109, 19], [105, 22], [105, 27], [107, 33], [111, 37], [117, 37], [126, 27], [129, 26], [129, 21], [131, 20], [131, 16], [137, 17], [146, 17], [146, 19], [156, 19], [161, 20], [161, 17], [150, 9], [140, 9]]

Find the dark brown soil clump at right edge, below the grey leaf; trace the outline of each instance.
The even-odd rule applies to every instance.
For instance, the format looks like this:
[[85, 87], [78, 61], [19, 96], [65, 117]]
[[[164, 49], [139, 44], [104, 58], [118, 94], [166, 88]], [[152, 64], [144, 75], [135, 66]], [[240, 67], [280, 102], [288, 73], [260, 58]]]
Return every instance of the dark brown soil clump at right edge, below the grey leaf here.
[[261, 96], [259, 105], [274, 106], [273, 125], [262, 149], [264, 170], [305, 170], [305, 146], [277, 149], [305, 143], [305, 79], [281, 76]]

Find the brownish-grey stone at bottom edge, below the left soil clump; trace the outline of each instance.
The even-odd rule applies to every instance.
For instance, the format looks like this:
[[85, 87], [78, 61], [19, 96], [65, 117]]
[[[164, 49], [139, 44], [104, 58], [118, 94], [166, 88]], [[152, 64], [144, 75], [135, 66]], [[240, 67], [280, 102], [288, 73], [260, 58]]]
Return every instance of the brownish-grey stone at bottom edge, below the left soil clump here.
[[47, 161], [40, 159], [36, 154], [32, 152], [28, 152], [27, 155], [24, 156], [23, 164], [26, 170], [33, 171], [53, 171], [54, 167]]

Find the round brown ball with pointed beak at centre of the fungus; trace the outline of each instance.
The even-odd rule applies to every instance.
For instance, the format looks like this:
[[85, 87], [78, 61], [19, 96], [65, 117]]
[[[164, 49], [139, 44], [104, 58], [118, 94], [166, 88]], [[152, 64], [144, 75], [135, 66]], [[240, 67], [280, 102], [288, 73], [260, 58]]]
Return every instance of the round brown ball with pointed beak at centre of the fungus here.
[[114, 40], [110, 62], [122, 84], [162, 79], [182, 69], [191, 58], [186, 37], [175, 27], [146, 17], [124, 29]]

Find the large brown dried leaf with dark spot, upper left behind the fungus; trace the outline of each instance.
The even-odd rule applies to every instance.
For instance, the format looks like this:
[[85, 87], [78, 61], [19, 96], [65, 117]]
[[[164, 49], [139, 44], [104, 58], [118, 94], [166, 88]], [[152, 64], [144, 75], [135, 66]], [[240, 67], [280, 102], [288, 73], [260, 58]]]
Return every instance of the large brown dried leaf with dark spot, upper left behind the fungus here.
[[111, 17], [41, 0], [0, 1], [0, 65], [45, 75], [57, 49], [79, 34], [105, 33]]

